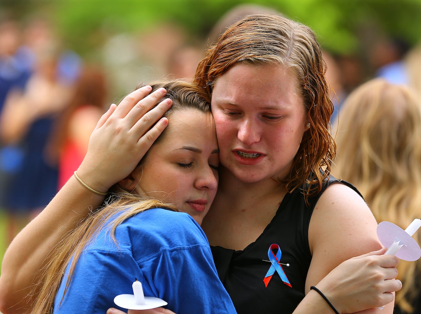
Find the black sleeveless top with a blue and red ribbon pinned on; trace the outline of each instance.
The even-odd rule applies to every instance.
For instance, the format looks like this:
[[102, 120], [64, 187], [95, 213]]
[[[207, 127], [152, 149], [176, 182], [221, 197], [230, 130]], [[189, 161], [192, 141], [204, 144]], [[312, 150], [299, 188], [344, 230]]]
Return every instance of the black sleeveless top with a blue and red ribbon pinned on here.
[[[345, 181], [330, 178], [322, 191], [309, 197], [306, 205], [301, 189], [287, 193], [264, 232], [244, 250], [211, 247], [219, 278], [232, 298], [238, 314], [292, 313], [304, 298], [307, 271], [312, 260], [308, 229], [314, 206], [325, 189], [334, 182], [357, 189]], [[257, 209], [258, 210], [258, 209]], [[241, 236], [241, 234], [239, 235]], [[280, 263], [290, 286], [275, 271], [267, 287], [263, 279], [271, 267], [268, 250], [277, 244]], [[277, 250], [273, 250], [276, 254]]]

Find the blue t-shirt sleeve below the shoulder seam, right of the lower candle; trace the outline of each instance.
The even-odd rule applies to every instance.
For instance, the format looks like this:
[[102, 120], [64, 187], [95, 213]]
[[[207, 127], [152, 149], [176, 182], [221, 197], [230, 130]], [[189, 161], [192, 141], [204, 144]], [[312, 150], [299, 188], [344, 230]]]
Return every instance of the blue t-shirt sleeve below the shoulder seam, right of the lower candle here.
[[[234, 305], [218, 278], [208, 245], [192, 245], [162, 250], [155, 273], [145, 274], [153, 280], [157, 297], [168, 302], [177, 314], [236, 313]], [[171, 306], [173, 305], [173, 306]]]

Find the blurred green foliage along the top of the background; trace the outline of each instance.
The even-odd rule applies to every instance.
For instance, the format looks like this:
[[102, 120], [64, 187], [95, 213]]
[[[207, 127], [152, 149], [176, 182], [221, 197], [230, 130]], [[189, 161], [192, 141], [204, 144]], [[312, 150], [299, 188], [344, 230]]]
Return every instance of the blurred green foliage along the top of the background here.
[[218, 18], [240, 3], [266, 5], [312, 27], [335, 53], [358, 51], [373, 27], [410, 44], [421, 37], [421, 0], [1, 0], [0, 10], [49, 16], [69, 48], [84, 54], [109, 33], [147, 32], [165, 21], [205, 39]]

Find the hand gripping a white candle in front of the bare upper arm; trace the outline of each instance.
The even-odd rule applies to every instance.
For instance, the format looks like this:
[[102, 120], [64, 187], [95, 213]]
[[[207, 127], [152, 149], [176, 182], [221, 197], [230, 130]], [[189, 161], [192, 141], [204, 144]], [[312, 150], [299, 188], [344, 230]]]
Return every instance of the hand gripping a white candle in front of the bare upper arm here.
[[394, 300], [402, 288], [397, 277], [398, 258], [383, 255], [386, 248], [344, 261], [323, 278], [317, 288], [340, 313], [377, 308]]

